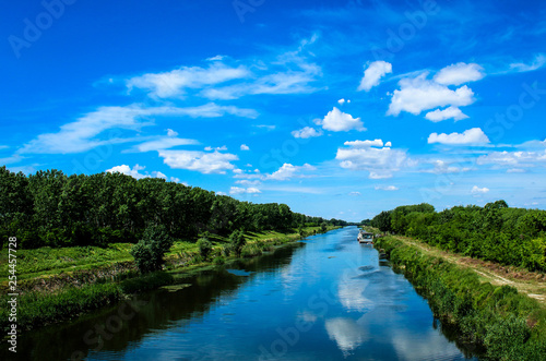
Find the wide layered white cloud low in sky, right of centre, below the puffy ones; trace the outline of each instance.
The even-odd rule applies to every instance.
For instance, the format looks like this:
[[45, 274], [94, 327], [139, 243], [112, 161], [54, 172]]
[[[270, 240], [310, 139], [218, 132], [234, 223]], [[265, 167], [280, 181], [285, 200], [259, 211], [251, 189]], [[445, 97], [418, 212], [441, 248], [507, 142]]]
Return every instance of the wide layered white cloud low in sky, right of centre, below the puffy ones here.
[[337, 148], [335, 159], [342, 168], [369, 171], [371, 179], [391, 178], [408, 159], [404, 151], [380, 144], [380, 140], [346, 142], [348, 147]]

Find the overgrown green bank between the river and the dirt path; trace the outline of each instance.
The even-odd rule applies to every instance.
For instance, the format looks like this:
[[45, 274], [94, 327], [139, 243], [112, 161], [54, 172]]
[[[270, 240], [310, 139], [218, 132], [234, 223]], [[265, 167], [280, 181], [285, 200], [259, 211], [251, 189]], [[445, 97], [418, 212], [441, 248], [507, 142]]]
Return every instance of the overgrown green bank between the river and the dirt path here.
[[546, 354], [546, 308], [538, 300], [510, 285], [494, 285], [483, 273], [413, 239], [384, 237], [375, 246], [443, 324], [455, 326], [465, 341], [485, 350], [480, 358], [542, 360]]

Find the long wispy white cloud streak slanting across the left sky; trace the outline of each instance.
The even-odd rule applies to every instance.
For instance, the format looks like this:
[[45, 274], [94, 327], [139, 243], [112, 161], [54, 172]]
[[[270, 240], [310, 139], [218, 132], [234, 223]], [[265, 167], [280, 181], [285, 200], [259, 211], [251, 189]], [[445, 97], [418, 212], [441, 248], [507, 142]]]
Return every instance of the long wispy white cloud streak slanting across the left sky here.
[[[87, 152], [104, 144], [123, 143], [134, 140], [98, 139], [97, 136], [112, 129], [140, 130], [143, 127], [152, 125], [146, 121], [154, 116], [188, 116], [192, 118], [217, 118], [225, 115], [237, 117], [256, 118], [258, 113], [252, 109], [241, 109], [233, 106], [218, 106], [210, 103], [199, 107], [152, 107], [145, 108], [141, 105], [130, 105], [126, 107], [100, 107], [88, 112], [74, 122], [61, 125], [57, 133], [45, 133], [37, 139], [25, 144], [20, 153], [38, 154], [70, 154]], [[180, 142], [180, 141], [171, 141]]]

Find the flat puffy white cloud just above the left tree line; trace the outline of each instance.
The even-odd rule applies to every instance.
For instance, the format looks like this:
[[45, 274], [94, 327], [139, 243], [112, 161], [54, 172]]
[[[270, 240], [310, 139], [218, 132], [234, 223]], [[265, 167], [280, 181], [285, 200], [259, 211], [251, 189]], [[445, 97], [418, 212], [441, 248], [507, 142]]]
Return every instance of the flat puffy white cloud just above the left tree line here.
[[222, 173], [236, 167], [232, 160], [239, 158], [229, 153], [204, 153], [198, 151], [159, 151], [159, 157], [173, 169], [195, 170], [205, 175]]

